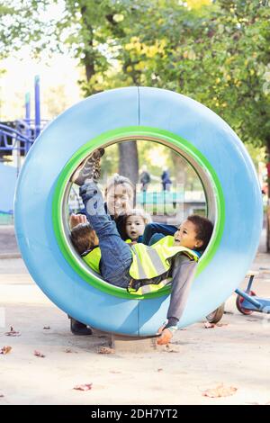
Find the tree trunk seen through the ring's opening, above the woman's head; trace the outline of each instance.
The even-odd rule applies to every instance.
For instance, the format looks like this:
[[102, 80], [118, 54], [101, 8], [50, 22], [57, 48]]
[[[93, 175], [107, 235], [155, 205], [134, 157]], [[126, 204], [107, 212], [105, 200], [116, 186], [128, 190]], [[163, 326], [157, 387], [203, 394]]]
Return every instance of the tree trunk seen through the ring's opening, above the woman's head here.
[[118, 143], [119, 174], [130, 178], [133, 184], [138, 183], [139, 159], [136, 141]]

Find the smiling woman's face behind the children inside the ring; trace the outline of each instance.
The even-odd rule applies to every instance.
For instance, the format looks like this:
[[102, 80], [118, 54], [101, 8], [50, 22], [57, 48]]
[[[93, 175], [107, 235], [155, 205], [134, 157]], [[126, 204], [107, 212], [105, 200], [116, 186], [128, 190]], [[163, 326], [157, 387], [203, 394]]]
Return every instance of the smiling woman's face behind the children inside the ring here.
[[112, 185], [106, 195], [109, 214], [115, 217], [127, 214], [133, 207], [133, 193], [130, 185]]

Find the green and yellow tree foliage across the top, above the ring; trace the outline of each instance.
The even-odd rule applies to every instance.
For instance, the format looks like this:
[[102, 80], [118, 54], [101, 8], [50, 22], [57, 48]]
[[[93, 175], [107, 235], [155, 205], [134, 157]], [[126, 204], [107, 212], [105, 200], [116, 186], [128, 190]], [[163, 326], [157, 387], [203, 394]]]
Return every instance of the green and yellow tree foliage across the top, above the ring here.
[[270, 153], [269, 2], [6, 0], [0, 14], [2, 54], [26, 43], [76, 57], [85, 94], [150, 85], [189, 95]]

